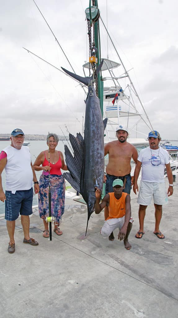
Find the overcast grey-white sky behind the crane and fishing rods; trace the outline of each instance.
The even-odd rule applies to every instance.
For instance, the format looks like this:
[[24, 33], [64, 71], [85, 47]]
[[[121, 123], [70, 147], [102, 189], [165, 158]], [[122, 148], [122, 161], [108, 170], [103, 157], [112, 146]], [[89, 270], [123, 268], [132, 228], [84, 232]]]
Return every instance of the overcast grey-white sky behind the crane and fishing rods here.
[[[89, 0], [36, 0], [45, 19], [82, 75], [88, 59], [84, 10]], [[178, 23], [176, 0], [100, 0], [101, 17], [130, 71], [148, 117], [162, 138], [177, 139]], [[101, 23], [100, 23], [101, 25]], [[101, 26], [102, 57], [107, 41]], [[9, 0], [0, 10], [0, 133], [21, 128], [26, 134], [62, 135], [82, 131], [84, 93], [56, 67], [71, 70], [55, 38], [32, 0]], [[109, 44], [110, 49], [110, 44]], [[112, 49], [109, 59], [117, 57]], [[145, 134], [148, 129], [145, 129]]]

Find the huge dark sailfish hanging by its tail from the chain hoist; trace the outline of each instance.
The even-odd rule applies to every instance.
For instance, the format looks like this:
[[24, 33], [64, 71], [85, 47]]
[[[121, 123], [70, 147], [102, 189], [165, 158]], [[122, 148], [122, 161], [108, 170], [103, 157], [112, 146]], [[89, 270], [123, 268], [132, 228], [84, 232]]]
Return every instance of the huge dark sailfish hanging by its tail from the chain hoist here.
[[[100, 72], [102, 64], [103, 60], [96, 69], [97, 75]], [[99, 188], [102, 193], [104, 178], [104, 129], [106, 128], [107, 118], [104, 121], [102, 120], [100, 100], [96, 96], [92, 81], [93, 75], [91, 77], [81, 77], [67, 71], [63, 67], [62, 69], [71, 77], [88, 86], [88, 95], [85, 100], [84, 138], [80, 133], [77, 133], [76, 137], [69, 134], [74, 155], [71, 154], [69, 148], [65, 145], [65, 160], [69, 172], [63, 174], [64, 178], [82, 195], [87, 204], [88, 227], [89, 218], [95, 209], [95, 188]]]

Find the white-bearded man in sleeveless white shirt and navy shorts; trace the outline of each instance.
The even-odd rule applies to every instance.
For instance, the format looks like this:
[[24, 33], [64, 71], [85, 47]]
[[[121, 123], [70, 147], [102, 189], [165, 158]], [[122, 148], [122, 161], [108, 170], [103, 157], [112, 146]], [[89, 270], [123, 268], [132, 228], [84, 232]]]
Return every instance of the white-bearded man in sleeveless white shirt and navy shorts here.
[[[21, 215], [24, 239], [23, 243], [38, 245], [29, 236], [30, 218], [32, 214], [32, 200], [34, 182], [35, 193], [39, 192], [39, 185], [36, 179], [35, 170], [31, 163], [30, 150], [23, 146], [24, 133], [16, 128], [11, 133], [11, 145], [4, 148], [0, 153], [0, 200], [5, 200], [5, 219], [9, 233], [8, 252], [15, 252], [15, 222]], [[2, 187], [1, 174], [6, 172], [6, 191]]]

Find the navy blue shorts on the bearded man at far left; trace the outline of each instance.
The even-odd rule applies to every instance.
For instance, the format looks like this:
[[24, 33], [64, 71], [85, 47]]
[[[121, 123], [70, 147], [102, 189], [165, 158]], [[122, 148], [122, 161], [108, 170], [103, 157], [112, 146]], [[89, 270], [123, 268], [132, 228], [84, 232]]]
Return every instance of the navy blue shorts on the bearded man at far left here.
[[20, 215], [32, 214], [33, 188], [30, 190], [19, 190], [15, 194], [6, 191], [5, 219], [15, 221]]

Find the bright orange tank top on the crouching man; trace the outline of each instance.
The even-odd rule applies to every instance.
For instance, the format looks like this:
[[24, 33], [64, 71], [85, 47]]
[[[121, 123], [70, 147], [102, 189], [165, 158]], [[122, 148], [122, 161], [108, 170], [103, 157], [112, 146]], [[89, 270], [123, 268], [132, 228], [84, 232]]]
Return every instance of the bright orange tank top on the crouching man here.
[[125, 215], [125, 198], [129, 195], [128, 193], [122, 192], [122, 197], [116, 199], [114, 192], [109, 193], [109, 217], [106, 220], [111, 218], [122, 218]]

